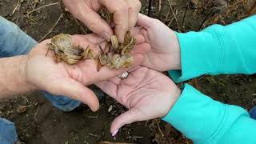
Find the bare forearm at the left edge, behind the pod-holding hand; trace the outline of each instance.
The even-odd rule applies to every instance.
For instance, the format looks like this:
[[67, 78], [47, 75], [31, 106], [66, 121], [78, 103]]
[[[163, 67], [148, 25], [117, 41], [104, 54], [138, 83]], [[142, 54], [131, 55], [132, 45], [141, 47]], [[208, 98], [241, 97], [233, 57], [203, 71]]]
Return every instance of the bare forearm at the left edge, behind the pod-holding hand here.
[[26, 82], [26, 56], [0, 58], [0, 99], [34, 90]]

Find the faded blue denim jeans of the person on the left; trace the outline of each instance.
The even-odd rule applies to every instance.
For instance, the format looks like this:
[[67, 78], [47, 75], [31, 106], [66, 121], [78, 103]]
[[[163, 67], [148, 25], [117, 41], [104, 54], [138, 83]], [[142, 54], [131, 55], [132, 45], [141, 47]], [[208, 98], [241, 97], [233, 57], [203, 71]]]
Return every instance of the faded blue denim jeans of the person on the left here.
[[[0, 58], [27, 54], [37, 42], [30, 38], [14, 23], [0, 16]], [[55, 96], [46, 91], [42, 94], [58, 109], [71, 111], [80, 106], [81, 102], [65, 96]], [[0, 143], [10, 144], [17, 140], [17, 134], [13, 122], [0, 118]]]

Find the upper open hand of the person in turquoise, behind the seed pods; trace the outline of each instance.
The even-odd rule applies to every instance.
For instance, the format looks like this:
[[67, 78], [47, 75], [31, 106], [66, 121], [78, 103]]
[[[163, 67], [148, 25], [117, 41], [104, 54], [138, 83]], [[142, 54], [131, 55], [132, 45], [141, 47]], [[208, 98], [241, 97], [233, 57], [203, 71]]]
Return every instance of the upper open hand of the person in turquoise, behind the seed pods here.
[[158, 71], [180, 70], [181, 52], [174, 31], [158, 19], [143, 14], [138, 15], [137, 24], [140, 27], [134, 28], [132, 33], [142, 34], [151, 46], [150, 53], [146, 55], [142, 66]]

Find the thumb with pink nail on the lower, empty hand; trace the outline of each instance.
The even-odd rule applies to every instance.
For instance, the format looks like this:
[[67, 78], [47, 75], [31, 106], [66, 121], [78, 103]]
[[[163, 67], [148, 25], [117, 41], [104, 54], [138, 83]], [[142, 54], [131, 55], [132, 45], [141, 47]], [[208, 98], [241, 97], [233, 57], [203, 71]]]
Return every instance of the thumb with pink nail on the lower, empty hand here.
[[114, 119], [114, 122], [112, 122], [110, 132], [112, 136], [118, 133], [118, 130], [126, 125], [130, 124], [132, 122], [142, 121], [142, 114], [141, 111], [138, 109], [130, 109], [126, 111], [125, 113], [118, 116], [118, 118]]

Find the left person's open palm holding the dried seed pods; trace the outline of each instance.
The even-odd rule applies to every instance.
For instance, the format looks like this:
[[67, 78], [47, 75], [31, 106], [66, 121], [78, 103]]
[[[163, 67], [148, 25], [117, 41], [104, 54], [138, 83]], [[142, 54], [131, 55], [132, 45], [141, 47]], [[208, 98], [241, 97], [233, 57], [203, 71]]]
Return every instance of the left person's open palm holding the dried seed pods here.
[[[95, 34], [74, 35], [72, 41], [74, 46], [86, 47], [89, 45], [94, 53], [99, 52], [98, 45], [105, 43], [102, 38]], [[138, 66], [142, 62], [143, 55], [150, 49], [147, 44], [142, 43], [144, 41], [142, 36], [138, 36], [137, 41], [138, 45], [133, 51], [134, 66]], [[65, 62], [56, 63], [52, 51], [46, 57], [46, 43], [50, 43], [50, 40], [39, 43], [26, 56], [26, 64], [22, 70], [26, 82], [36, 86], [37, 90], [46, 90], [56, 95], [66, 95], [86, 103], [93, 111], [98, 110], [98, 98], [86, 86], [116, 77], [127, 70], [110, 70], [103, 66], [101, 70], [97, 71], [97, 62], [94, 59], [84, 60], [72, 66]]]

